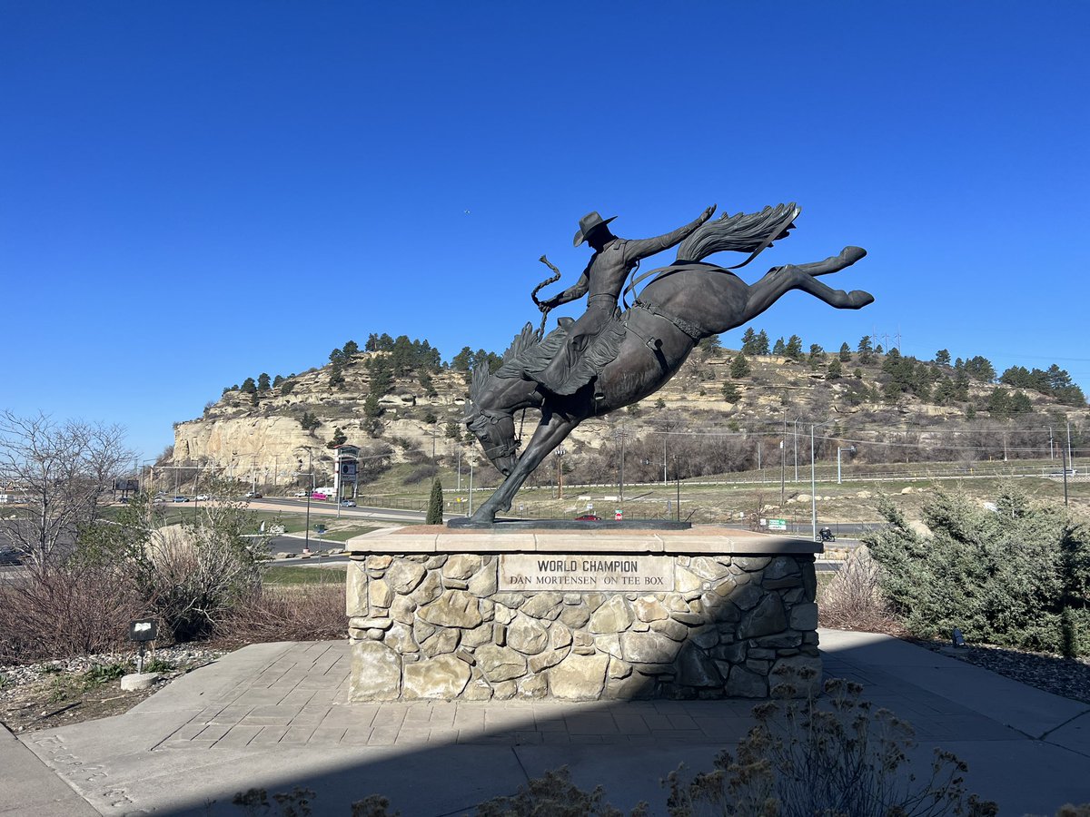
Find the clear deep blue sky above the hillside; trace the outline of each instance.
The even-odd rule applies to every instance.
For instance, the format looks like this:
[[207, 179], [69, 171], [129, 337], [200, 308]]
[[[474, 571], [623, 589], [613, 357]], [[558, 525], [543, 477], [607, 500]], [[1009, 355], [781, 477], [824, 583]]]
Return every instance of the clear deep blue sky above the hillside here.
[[824, 280], [876, 301], [755, 328], [1090, 391], [1088, 31], [1085, 2], [4, 0], [0, 408], [154, 456], [371, 332], [502, 351], [589, 210], [643, 237], [789, 200], [743, 278], [856, 244]]

